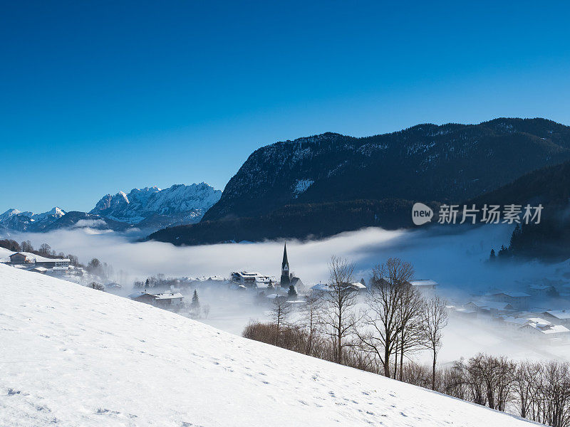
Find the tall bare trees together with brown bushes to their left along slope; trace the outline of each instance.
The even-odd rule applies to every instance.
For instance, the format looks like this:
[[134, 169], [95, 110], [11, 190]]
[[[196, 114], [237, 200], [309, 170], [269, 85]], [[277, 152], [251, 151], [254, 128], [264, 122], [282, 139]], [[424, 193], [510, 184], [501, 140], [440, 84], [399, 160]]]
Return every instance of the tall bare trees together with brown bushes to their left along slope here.
[[[271, 310], [274, 328], [248, 325], [244, 336], [393, 378], [399, 373], [400, 379], [405, 361], [427, 349], [432, 354], [435, 387], [437, 352], [447, 311], [443, 300], [427, 299], [410, 285], [412, 265], [399, 258], [378, 265], [373, 269], [370, 292], [364, 295], [347, 285], [353, 282], [354, 272], [348, 260], [333, 256], [329, 271], [328, 290], [306, 297], [294, 322], [289, 303], [276, 299]], [[256, 327], [263, 329], [260, 337]], [[274, 333], [271, 338], [270, 332]], [[291, 337], [301, 339], [302, 344], [291, 344]]]

